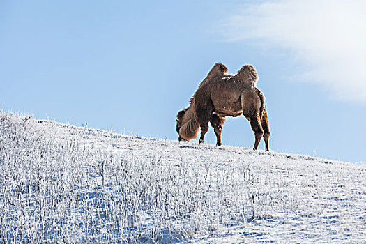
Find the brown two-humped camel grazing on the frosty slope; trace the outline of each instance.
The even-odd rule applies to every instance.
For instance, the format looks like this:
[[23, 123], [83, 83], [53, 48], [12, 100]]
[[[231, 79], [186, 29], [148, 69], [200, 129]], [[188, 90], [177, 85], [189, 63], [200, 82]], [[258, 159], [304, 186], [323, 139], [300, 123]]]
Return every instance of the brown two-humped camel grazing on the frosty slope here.
[[253, 149], [258, 148], [263, 136], [266, 150], [269, 151], [268, 115], [264, 95], [256, 87], [257, 71], [253, 66], [245, 65], [236, 75], [228, 75], [226, 72], [227, 68], [222, 63], [216, 63], [206, 79], [199, 84], [190, 106], [178, 113], [176, 131], [179, 140], [194, 139], [201, 128], [199, 142], [204, 142], [210, 122], [217, 137], [216, 144], [220, 146], [224, 117], [243, 114], [250, 121], [254, 132]]

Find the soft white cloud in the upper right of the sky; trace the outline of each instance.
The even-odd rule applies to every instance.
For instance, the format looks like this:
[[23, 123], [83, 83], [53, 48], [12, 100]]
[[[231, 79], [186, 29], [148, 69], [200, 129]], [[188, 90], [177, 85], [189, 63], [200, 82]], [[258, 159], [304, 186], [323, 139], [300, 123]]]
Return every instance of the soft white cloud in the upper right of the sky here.
[[289, 49], [307, 67], [300, 75], [335, 99], [366, 104], [366, 1], [251, 3], [225, 20], [222, 33], [230, 41]]

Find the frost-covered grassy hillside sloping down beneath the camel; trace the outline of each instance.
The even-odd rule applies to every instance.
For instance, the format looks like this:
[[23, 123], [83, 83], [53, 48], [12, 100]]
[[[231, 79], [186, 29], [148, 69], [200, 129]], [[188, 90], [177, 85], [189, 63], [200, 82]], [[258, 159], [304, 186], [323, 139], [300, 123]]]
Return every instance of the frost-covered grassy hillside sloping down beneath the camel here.
[[366, 243], [366, 167], [1, 113], [0, 209], [1, 243]]

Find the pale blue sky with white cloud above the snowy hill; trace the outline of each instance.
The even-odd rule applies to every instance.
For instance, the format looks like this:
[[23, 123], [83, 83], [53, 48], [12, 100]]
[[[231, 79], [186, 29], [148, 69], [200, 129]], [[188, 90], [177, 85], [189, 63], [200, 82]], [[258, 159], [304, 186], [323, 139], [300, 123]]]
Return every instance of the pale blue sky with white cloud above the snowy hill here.
[[[326, 0], [1, 1], [0, 105], [177, 139], [176, 114], [211, 66], [236, 73], [250, 63], [271, 150], [365, 162], [365, 9]], [[222, 141], [252, 147], [246, 119], [227, 119]], [[215, 143], [212, 129], [206, 142]]]

